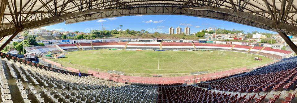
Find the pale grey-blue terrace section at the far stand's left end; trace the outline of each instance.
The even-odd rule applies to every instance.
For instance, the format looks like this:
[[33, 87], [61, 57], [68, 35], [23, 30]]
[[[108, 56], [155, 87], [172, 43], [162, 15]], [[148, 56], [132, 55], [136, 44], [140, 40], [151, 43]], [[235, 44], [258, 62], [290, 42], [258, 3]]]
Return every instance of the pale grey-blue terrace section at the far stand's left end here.
[[61, 50], [59, 50], [58, 47], [55, 45], [45, 45], [45, 46], [37, 46], [37, 47], [24, 47], [26, 52], [35, 52], [37, 56], [41, 56], [42, 54], [47, 53], [48, 51], [51, 51], [52, 54], [60, 53]]

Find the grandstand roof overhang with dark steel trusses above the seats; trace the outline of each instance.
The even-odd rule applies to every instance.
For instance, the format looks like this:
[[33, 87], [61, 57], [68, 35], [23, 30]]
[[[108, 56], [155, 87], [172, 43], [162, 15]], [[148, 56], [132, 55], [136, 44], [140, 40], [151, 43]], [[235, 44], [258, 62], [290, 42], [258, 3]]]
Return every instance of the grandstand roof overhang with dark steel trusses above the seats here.
[[56, 23], [158, 14], [219, 19], [297, 36], [293, 0], [0, 0], [0, 5], [0, 38]]

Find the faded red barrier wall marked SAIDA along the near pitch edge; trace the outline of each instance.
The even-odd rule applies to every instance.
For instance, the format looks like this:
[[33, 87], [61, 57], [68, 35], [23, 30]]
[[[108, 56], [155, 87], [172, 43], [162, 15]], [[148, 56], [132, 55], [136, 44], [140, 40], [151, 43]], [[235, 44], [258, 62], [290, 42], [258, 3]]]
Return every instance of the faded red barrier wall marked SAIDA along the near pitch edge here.
[[140, 76], [126, 76], [126, 75], [117, 75], [117, 74], [109, 74], [106, 72], [99, 72], [88, 70], [89, 73], [93, 73], [93, 76], [108, 79], [109, 77], [113, 77], [114, 81], [118, 80], [119, 82], [130, 82], [130, 83], [144, 83], [144, 84], [168, 84], [168, 83], [187, 83], [187, 84], [194, 84], [200, 81], [197, 80], [211, 80], [217, 79], [224, 76], [231, 76], [234, 74], [239, 74], [243, 72], [251, 72], [252, 70], [260, 67], [264, 67], [270, 64], [274, 64], [278, 61], [260, 65], [254, 68], [247, 69], [246, 67], [231, 69], [222, 72], [213, 72], [208, 74], [200, 74], [200, 75], [193, 75], [193, 76], [178, 76], [178, 77], [140, 77]]

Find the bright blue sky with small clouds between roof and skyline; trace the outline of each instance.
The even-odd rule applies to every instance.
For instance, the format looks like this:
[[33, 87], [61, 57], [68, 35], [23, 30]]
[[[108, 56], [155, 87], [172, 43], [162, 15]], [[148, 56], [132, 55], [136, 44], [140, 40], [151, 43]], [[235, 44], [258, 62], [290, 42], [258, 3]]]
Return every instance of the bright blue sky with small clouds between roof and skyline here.
[[[188, 26], [191, 28], [191, 33], [198, 32], [202, 29], [208, 28], [222, 28], [227, 30], [243, 30], [245, 33], [252, 31], [266, 32], [267, 30], [246, 26], [242, 24], [216, 20], [199, 18], [192, 16], [182, 15], [142, 15], [142, 16], [124, 16], [108, 19], [98, 19], [93, 21], [86, 21], [73, 24], [59, 23], [51, 26], [42, 27], [47, 30], [59, 30], [59, 31], [81, 31], [89, 32], [92, 29], [101, 30], [101, 23], [106, 30], [117, 29], [119, 25], [123, 25], [123, 30], [130, 29], [140, 31], [144, 29], [153, 33], [155, 31], [168, 33], [168, 28], [181, 27], [184, 31], [184, 27]], [[267, 31], [269, 33], [276, 34], [276, 32]]]

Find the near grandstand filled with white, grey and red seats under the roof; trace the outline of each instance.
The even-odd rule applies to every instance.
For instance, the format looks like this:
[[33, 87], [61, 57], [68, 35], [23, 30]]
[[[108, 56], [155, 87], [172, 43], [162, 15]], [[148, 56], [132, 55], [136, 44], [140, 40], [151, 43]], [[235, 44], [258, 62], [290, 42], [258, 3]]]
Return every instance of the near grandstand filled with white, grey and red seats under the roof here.
[[[256, 91], [280, 90], [278, 89], [280, 87], [291, 87], [292, 83], [289, 82], [272, 84], [269, 86], [270, 88], [266, 84], [296, 80], [297, 58], [282, 60], [263, 68], [257, 68], [252, 72], [235, 74], [197, 84], [200, 87], [186, 86], [182, 83], [130, 83], [124, 85], [94, 76], [80, 77], [53, 72], [12, 59], [9, 60], [6, 57], [2, 61], [0, 62], [0, 87], [3, 103], [273, 103], [276, 101], [294, 103], [296, 101], [294, 97], [297, 93], [297, 89], [286, 95], [281, 95], [281, 93], [273, 95], [266, 93], [248, 95], [245, 93], [241, 95], [238, 92], [252, 92], [255, 89]], [[248, 87], [248, 85], [257, 84], [260, 85]], [[16, 88], [11, 88], [14, 85]], [[221, 91], [208, 90], [209, 85], [216, 85], [212, 88]], [[228, 87], [233, 85], [235, 88]], [[246, 87], [239, 89], [239, 86]]]

